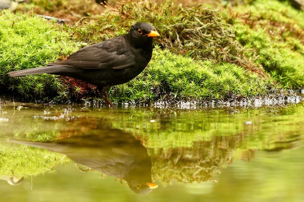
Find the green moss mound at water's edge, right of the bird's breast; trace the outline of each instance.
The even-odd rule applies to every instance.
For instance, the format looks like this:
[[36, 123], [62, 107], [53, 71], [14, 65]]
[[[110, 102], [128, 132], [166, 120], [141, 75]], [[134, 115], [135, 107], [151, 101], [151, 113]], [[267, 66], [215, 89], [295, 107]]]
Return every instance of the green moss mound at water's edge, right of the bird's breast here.
[[193, 60], [159, 47], [153, 57], [138, 79], [113, 88], [117, 102], [231, 99], [269, 92], [264, 79], [232, 63]]

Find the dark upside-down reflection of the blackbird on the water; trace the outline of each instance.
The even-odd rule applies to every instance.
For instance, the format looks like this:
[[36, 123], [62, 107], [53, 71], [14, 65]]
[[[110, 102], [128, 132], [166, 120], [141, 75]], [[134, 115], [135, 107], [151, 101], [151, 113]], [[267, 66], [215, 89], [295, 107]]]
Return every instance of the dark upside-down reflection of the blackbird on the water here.
[[151, 178], [151, 158], [147, 149], [122, 130], [98, 128], [90, 134], [49, 142], [10, 140], [67, 155], [91, 169], [125, 180], [135, 193], [147, 194], [156, 188]]

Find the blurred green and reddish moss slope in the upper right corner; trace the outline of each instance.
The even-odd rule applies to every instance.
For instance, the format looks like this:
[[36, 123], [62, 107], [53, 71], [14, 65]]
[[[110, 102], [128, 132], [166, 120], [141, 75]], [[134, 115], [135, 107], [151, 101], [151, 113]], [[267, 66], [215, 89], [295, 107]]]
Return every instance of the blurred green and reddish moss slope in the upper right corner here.
[[[284, 89], [304, 86], [304, 23], [298, 12], [276, 0], [256, 0], [232, 16], [236, 39], [246, 56], [261, 64]], [[228, 20], [229, 21], [229, 20]]]

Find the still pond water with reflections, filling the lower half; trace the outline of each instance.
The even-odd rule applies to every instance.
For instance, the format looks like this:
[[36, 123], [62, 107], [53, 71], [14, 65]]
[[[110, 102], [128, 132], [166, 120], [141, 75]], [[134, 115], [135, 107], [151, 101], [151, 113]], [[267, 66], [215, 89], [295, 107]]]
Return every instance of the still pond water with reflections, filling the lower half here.
[[303, 103], [14, 103], [1, 106], [0, 128], [0, 202], [304, 201]]

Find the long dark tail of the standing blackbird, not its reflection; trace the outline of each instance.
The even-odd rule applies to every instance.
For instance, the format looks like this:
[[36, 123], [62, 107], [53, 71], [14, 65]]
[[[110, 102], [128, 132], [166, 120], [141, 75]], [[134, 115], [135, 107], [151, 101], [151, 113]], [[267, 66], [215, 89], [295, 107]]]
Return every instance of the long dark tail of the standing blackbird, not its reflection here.
[[34, 75], [34, 74], [56, 74], [62, 71], [62, 68], [64, 66], [43, 66], [43, 67], [36, 67], [31, 69], [23, 69], [15, 72], [9, 72], [8, 75], [10, 77], [20, 77], [20, 76], [26, 76], [26, 75]]

